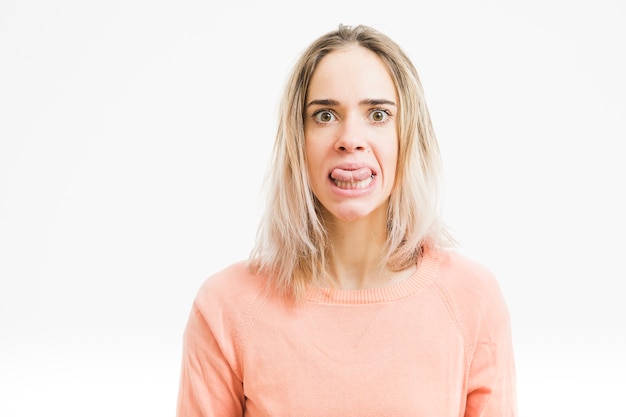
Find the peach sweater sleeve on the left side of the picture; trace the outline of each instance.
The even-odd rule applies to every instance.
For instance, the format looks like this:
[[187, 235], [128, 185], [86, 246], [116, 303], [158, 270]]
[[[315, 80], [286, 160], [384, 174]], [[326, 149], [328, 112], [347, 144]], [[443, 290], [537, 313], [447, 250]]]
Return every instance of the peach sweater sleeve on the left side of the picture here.
[[177, 417], [243, 416], [243, 384], [194, 303], [183, 337]]

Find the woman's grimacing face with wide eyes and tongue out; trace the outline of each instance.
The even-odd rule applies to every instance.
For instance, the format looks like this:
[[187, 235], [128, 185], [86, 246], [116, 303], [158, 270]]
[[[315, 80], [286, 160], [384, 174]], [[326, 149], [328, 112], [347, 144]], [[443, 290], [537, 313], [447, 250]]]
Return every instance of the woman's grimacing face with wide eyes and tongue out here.
[[319, 62], [304, 136], [310, 185], [326, 216], [385, 218], [398, 159], [397, 103], [387, 68], [369, 49], [334, 51]]

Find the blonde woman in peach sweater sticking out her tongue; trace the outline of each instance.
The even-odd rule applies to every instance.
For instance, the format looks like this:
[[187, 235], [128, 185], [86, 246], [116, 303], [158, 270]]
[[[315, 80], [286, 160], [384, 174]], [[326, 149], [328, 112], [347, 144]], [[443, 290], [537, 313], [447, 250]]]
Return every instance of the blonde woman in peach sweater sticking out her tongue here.
[[450, 245], [417, 72], [340, 26], [281, 102], [249, 260], [200, 288], [178, 416], [516, 415], [507, 307]]

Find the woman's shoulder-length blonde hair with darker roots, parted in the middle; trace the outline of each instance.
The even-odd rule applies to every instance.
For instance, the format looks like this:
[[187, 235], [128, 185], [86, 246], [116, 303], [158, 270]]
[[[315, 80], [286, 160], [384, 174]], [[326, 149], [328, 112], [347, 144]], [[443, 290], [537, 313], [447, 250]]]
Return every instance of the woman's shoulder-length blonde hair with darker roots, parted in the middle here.
[[287, 80], [266, 183], [267, 205], [249, 262], [253, 272], [270, 276], [275, 289], [296, 297], [303, 295], [307, 284], [324, 279], [331, 247], [306, 169], [306, 94], [320, 60], [353, 45], [382, 59], [399, 99], [398, 164], [383, 262], [392, 270], [403, 270], [416, 262], [424, 246], [452, 242], [441, 221], [440, 153], [417, 70], [386, 35], [363, 25], [340, 25], [304, 50]]

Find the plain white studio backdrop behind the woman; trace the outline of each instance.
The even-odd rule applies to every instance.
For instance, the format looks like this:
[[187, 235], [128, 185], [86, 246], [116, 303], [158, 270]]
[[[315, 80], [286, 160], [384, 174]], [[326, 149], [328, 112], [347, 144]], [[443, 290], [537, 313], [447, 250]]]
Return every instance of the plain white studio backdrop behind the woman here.
[[520, 415], [623, 415], [625, 8], [0, 1], [0, 415], [174, 415], [195, 292], [254, 240], [287, 72], [339, 23], [420, 72]]

